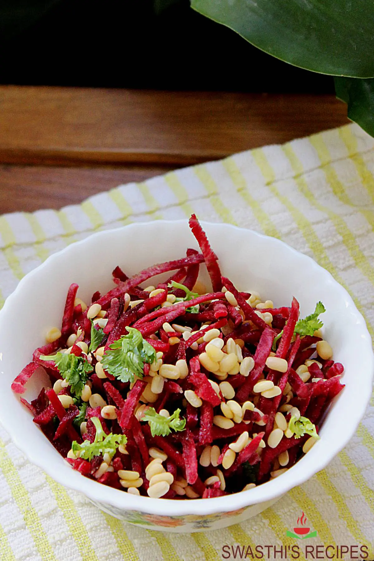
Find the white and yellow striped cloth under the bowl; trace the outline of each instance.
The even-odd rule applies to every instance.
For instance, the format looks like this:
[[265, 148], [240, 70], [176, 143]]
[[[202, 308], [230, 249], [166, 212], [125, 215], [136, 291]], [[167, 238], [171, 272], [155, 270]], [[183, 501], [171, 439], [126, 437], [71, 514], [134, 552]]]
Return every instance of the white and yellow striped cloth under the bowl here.
[[[68, 243], [135, 220], [196, 213], [264, 232], [312, 256], [348, 289], [373, 334], [373, 174], [374, 140], [348, 125], [122, 185], [59, 211], [3, 215], [0, 307], [24, 274]], [[366, 544], [373, 559], [373, 468], [372, 399], [349, 446], [273, 508], [224, 530], [167, 534], [119, 522], [57, 485], [0, 427], [0, 559], [214, 561], [223, 558], [223, 545], [297, 543], [286, 531], [301, 511], [318, 531], [318, 544]]]

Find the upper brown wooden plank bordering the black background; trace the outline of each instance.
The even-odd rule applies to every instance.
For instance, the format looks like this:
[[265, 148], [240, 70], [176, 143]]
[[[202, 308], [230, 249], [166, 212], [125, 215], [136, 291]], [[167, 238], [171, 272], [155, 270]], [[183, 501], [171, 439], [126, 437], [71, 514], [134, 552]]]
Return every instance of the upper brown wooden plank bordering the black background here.
[[188, 165], [347, 121], [334, 96], [0, 88], [0, 163]]

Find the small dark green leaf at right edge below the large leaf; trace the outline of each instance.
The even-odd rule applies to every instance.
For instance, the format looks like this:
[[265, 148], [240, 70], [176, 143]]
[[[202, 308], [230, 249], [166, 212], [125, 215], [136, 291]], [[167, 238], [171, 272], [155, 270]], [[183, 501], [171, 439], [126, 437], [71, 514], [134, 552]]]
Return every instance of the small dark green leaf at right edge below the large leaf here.
[[336, 97], [348, 105], [348, 117], [374, 136], [374, 79], [335, 76]]

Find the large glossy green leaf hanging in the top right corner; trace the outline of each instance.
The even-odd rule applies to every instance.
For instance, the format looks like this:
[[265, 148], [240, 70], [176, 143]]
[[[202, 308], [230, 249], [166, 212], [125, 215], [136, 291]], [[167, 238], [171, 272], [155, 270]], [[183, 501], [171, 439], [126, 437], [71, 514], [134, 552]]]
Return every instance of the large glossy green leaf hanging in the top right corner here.
[[191, 0], [191, 6], [294, 66], [336, 76], [374, 76], [372, 0]]

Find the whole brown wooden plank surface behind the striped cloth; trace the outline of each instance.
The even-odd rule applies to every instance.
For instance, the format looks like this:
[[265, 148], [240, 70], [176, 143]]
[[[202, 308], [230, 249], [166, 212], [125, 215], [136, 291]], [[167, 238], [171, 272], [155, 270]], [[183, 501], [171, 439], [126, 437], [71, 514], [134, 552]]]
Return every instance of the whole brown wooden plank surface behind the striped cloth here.
[[1, 86], [0, 213], [60, 208], [347, 122], [329, 95]]

